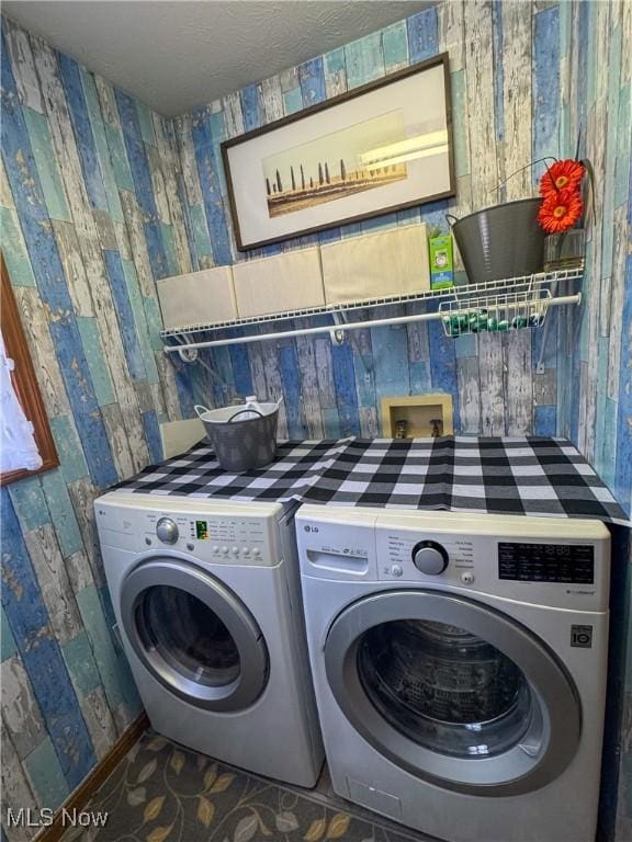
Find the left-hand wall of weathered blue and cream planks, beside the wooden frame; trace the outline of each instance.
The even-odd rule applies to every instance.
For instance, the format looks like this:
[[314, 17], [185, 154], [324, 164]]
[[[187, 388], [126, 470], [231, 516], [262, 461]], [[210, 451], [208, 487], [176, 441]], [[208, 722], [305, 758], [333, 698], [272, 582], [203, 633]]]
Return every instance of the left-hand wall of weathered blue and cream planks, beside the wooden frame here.
[[155, 287], [191, 270], [177, 159], [170, 123], [3, 19], [2, 251], [60, 459], [0, 492], [5, 807], [57, 807], [140, 712], [92, 501], [190, 405]]

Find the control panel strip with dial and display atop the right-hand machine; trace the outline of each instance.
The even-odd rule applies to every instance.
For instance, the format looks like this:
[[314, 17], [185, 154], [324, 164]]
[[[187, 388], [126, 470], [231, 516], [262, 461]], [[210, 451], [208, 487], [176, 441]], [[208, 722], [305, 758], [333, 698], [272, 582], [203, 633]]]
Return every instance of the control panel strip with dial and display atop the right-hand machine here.
[[365, 582], [368, 592], [382, 583], [608, 610], [610, 533], [599, 521], [306, 504], [296, 535], [304, 577]]

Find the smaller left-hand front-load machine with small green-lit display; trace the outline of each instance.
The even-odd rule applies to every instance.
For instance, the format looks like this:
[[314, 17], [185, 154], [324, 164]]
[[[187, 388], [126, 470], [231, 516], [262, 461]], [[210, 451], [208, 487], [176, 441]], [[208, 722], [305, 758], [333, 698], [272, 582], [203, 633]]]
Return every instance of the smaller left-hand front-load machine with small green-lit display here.
[[124, 491], [94, 510], [151, 725], [218, 760], [314, 786], [324, 753], [293, 511]]

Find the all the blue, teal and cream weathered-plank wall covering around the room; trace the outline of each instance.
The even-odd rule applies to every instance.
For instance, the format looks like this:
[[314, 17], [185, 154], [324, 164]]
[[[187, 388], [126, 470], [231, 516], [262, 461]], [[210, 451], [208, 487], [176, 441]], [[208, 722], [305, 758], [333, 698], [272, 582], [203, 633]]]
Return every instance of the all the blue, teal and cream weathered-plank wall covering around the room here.
[[[2, 490], [8, 805], [58, 805], [138, 710], [108, 633], [91, 501], [157, 457], [159, 421], [190, 417], [193, 398], [283, 392], [283, 432], [336, 436], [377, 433], [383, 395], [448, 391], [461, 432], [569, 435], [630, 510], [631, 27], [622, 3], [443, 2], [166, 121], [3, 21], [2, 248], [61, 459]], [[448, 209], [490, 203], [531, 159], [573, 155], [579, 136], [596, 173], [585, 304], [554, 315], [544, 373], [542, 331], [453, 342], [437, 325], [368, 329], [341, 348], [319, 337], [222, 349], [208, 357], [219, 380], [167, 362], [156, 280], [248, 259], [232, 235], [222, 140], [443, 50], [456, 200], [255, 257], [416, 219], [441, 226]], [[537, 174], [501, 195], [533, 194]], [[632, 662], [628, 676], [632, 731]], [[621, 842], [632, 838], [630, 746], [632, 732]]]

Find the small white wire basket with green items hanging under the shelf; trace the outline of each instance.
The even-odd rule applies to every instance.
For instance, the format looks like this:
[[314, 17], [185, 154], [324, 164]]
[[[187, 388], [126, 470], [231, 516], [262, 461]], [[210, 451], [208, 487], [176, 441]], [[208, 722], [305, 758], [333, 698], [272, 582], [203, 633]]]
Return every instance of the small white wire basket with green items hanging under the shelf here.
[[448, 337], [470, 333], [497, 333], [544, 325], [551, 291], [529, 287], [496, 295], [467, 295], [439, 305], [441, 323]]

